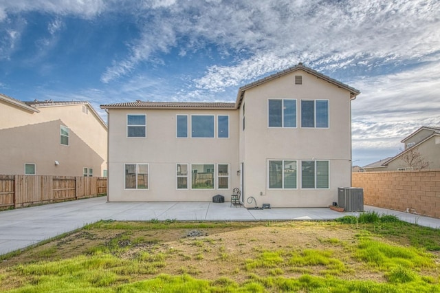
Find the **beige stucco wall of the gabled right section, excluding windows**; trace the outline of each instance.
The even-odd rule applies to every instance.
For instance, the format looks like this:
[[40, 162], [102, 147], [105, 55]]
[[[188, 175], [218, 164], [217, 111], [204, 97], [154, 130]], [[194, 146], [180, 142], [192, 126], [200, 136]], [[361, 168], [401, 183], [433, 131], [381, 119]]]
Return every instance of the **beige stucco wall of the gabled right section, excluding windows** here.
[[[302, 75], [303, 84], [295, 85], [294, 76]], [[297, 127], [267, 127], [267, 100], [297, 99]], [[329, 129], [300, 127], [300, 101], [329, 100]], [[351, 101], [349, 91], [306, 72], [297, 71], [276, 78], [245, 92], [245, 131], [241, 131], [240, 162], [245, 162], [245, 204], [254, 197], [257, 205], [273, 207], [329, 206], [337, 201], [338, 187], [351, 180]], [[297, 160], [296, 190], [268, 188], [268, 160]], [[301, 160], [329, 160], [329, 189], [302, 189]]]

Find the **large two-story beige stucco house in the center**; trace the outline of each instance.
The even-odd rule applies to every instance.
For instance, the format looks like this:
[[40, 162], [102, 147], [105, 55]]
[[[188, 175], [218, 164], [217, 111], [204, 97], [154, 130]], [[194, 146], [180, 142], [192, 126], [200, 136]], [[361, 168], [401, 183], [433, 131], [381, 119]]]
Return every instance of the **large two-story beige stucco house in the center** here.
[[101, 105], [110, 202], [230, 200], [318, 207], [351, 185], [351, 100], [360, 91], [302, 64], [241, 87], [236, 102]]

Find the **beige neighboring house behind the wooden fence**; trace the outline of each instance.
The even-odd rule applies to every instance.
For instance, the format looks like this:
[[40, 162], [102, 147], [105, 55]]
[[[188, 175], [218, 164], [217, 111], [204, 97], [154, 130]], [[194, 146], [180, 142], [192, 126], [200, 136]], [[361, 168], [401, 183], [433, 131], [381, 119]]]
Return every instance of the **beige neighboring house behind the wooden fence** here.
[[0, 94], [0, 174], [107, 175], [107, 125], [89, 102]]

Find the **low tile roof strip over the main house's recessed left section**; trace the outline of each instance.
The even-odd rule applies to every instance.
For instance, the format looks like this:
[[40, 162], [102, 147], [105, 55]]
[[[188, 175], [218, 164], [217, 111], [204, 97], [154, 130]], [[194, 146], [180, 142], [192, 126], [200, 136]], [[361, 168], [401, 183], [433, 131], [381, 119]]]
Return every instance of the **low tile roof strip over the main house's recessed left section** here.
[[235, 109], [234, 102], [119, 102], [101, 105], [101, 109]]

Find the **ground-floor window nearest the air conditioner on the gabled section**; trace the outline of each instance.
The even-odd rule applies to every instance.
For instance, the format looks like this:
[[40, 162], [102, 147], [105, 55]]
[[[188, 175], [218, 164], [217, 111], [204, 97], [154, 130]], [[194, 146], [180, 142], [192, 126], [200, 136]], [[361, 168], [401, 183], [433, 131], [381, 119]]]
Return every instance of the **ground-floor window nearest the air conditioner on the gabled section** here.
[[302, 188], [329, 188], [329, 161], [301, 162]]

